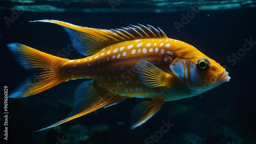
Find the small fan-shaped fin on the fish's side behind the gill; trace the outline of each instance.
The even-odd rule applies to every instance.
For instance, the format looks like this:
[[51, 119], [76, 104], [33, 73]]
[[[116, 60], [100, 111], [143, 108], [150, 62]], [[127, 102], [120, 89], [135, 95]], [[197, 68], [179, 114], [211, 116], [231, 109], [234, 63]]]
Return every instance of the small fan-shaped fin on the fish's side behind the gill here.
[[139, 61], [135, 65], [138, 77], [141, 82], [147, 87], [168, 87], [170, 85], [170, 78], [172, 75], [163, 72], [161, 69], [155, 67], [150, 62]]

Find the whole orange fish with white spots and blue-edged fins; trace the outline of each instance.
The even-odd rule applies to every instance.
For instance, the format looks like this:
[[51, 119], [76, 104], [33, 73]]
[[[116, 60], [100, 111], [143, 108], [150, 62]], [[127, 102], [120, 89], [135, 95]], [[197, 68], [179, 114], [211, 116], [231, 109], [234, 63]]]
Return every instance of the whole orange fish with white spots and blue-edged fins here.
[[9, 95], [24, 98], [71, 79], [85, 79], [75, 89], [68, 117], [45, 130], [126, 98], [147, 98], [131, 112], [131, 129], [150, 120], [167, 101], [197, 96], [223, 82], [228, 72], [194, 46], [168, 38], [152, 25], [100, 29], [58, 20], [36, 20], [62, 26], [82, 59], [69, 60], [29, 46], [10, 43], [14, 59], [34, 74]]

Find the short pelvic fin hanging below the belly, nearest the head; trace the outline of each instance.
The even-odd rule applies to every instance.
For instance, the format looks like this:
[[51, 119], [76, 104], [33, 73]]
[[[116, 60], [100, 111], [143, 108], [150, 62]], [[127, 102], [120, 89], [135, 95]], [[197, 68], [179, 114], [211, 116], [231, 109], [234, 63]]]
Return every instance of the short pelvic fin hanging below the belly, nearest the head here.
[[131, 129], [144, 124], [162, 107], [164, 100], [149, 100], [138, 103], [132, 110]]

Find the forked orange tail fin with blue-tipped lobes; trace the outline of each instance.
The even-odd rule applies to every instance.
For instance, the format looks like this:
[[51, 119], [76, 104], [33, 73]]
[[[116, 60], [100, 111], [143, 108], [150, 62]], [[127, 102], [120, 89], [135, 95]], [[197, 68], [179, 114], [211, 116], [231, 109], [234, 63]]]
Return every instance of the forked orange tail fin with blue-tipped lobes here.
[[29, 46], [7, 44], [16, 61], [26, 70], [34, 74], [24, 80], [11, 92], [9, 98], [23, 98], [50, 89], [60, 82], [67, 81], [63, 77], [61, 67], [68, 59], [62, 59]]

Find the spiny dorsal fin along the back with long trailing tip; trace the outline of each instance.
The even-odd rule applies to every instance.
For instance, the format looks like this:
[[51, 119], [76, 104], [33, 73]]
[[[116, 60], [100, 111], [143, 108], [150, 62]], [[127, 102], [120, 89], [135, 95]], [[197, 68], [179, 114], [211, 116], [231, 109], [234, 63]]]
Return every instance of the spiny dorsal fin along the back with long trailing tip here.
[[[140, 38], [163, 38], [164, 32], [158, 27], [151, 25], [138, 26], [131, 25], [127, 27], [103, 30], [98, 28], [82, 27], [71, 23], [58, 20], [36, 20], [41, 22], [51, 22], [61, 25], [69, 33], [70, 39], [75, 49], [82, 55], [93, 55], [102, 48], [119, 43]], [[31, 22], [36, 22], [31, 21]]]

